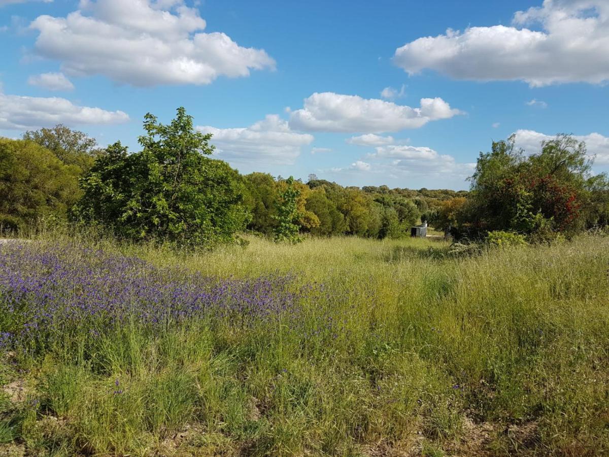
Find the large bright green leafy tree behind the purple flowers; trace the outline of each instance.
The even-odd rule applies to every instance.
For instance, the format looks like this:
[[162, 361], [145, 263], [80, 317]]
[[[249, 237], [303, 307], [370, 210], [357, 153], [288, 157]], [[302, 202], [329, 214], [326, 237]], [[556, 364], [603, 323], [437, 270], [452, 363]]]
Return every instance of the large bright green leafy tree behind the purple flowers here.
[[197, 132], [184, 108], [167, 125], [147, 114], [144, 130], [141, 152], [113, 144], [83, 177], [76, 214], [132, 239], [234, 241], [248, 217], [242, 183], [227, 163], [206, 157], [211, 134]]

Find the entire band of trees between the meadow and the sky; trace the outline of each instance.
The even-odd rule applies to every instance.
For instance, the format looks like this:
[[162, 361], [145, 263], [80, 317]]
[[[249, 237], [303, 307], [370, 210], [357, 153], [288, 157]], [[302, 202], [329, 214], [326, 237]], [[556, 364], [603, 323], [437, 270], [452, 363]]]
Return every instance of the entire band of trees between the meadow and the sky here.
[[[513, 138], [479, 155], [471, 190], [344, 187], [263, 172], [241, 175], [210, 158], [213, 138], [179, 108], [167, 125], [144, 118], [141, 151], [100, 148], [58, 125], [0, 139], [0, 225], [4, 232], [66, 222], [119, 238], [213, 246], [245, 230], [278, 241], [301, 235], [409, 236], [428, 221], [456, 238], [548, 241], [609, 223], [609, 183], [591, 173], [583, 143], [559, 135], [524, 155]], [[496, 233], [495, 235], [496, 236]]]

